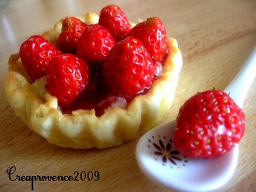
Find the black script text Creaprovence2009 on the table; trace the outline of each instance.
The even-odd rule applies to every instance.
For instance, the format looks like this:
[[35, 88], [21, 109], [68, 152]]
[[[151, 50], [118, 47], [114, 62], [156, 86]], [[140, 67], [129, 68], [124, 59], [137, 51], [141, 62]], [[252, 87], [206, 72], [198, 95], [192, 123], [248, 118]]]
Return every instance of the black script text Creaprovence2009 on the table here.
[[30, 181], [31, 182], [31, 190], [34, 189], [35, 181], [91, 181], [91, 180], [99, 180], [100, 173], [98, 171], [92, 172], [74, 172], [74, 175], [14, 175], [16, 172], [16, 167], [11, 166], [6, 170], [8, 178], [12, 181]]

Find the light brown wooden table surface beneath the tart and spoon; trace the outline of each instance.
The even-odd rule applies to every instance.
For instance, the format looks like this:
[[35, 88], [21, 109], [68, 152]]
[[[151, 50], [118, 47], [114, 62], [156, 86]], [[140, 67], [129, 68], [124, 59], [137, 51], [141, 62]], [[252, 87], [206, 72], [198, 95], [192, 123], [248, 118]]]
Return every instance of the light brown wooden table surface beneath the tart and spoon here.
[[[15, 175], [76, 175], [100, 173], [95, 181], [35, 181], [34, 191], [168, 191], [150, 182], [135, 159], [138, 140], [104, 150], [74, 150], [50, 145], [15, 116], [4, 93], [10, 54], [31, 35], [42, 34], [67, 15], [99, 13], [118, 4], [132, 22], [157, 16], [168, 35], [179, 42], [184, 65], [175, 101], [161, 123], [172, 120], [180, 105], [198, 91], [215, 86], [223, 90], [256, 45], [255, 0], [10, 0], [0, 10], [0, 191], [30, 191], [31, 182], [8, 179]], [[216, 191], [256, 191], [256, 82], [246, 102], [246, 132], [239, 143], [239, 164], [234, 177]]]

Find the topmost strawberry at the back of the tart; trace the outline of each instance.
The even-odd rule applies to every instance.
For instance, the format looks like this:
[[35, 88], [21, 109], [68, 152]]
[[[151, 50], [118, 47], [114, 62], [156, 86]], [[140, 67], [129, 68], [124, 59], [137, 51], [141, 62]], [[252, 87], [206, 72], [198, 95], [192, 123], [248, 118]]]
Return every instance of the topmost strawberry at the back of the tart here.
[[116, 5], [108, 5], [100, 11], [99, 24], [104, 26], [114, 36], [115, 40], [127, 37], [131, 24], [125, 13]]

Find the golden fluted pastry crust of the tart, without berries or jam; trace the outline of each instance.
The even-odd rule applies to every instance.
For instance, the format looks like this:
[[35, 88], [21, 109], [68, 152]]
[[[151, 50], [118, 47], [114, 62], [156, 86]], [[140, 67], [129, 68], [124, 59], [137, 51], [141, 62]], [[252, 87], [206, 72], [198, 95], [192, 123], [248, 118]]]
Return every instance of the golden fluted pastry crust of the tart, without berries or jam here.
[[[98, 22], [96, 13], [77, 17], [86, 24]], [[61, 32], [62, 20], [44, 36], [55, 44]], [[19, 54], [8, 61], [9, 71], [5, 79], [5, 92], [10, 106], [29, 129], [44, 137], [49, 143], [71, 148], [106, 148], [138, 138], [152, 129], [170, 108], [182, 56], [174, 38], [168, 38], [169, 51], [159, 76], [145, 95], [135, 97], [127, 109], [113, 107], [97, 117], [94, 110], [76, 110], [63, 114], [56, 97], [45, 88], [46, 77], [35, 83], [26, 74]]]

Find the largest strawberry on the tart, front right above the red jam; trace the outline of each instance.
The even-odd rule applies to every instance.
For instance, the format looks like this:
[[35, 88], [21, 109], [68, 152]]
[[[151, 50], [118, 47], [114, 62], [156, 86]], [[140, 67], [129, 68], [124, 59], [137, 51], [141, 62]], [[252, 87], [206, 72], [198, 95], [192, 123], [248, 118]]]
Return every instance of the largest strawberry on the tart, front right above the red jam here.
[[150, 87], [154, 65], [140, 40], [129, 36], [109, 52], [102, 66], [102, 77], [111, 92], [131, 97]]

